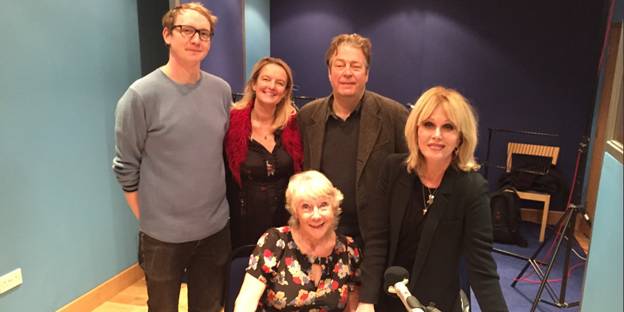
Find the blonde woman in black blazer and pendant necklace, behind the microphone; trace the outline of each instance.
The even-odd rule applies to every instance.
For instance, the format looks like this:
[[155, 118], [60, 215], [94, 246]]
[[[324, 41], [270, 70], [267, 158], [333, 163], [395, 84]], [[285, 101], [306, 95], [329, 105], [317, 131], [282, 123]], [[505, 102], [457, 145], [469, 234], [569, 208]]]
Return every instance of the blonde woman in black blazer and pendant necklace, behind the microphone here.
[[[508, 311], [492, 258], [489, 188], [476, 170], [476, 118], [452, 89], [424, 92], [406, 123], [410, 153], [390, 155], [365, 211], [358, 311], [405, 311], [383, 293], [383, 272], [402, 266], [422, 304], [461, 311], [460, 258], [482, 311]], [[373, 309], [373, 304], [376, 304]]]

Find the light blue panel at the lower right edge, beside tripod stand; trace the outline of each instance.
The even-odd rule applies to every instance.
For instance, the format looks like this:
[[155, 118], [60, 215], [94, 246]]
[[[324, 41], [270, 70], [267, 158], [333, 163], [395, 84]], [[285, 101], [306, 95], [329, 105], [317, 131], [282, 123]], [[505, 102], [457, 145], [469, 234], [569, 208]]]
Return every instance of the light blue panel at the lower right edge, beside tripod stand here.
[[582, 311], [622, 311], [624, 286], [624, 167], [605, 154], [600, 173], [596, 216], [591, 229]]

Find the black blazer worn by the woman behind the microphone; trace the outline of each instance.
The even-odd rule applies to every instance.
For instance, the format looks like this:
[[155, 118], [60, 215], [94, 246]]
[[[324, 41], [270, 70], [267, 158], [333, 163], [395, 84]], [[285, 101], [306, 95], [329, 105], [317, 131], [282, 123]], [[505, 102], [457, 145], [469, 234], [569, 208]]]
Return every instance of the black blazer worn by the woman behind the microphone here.
[[[390, 155], [381, 168], [365, 229], [360, 301], [376, 303], [383, 272], [394, 263], [401, 220], [418, 178], [408, 173], [407, 154]], [[476, 171], [450, 166], [429, 207], [408, 287], [420, 302], [456, 311], [460, 300], [460, 257], [483, 311], [508, 311], [492, 257], [492, 222], [487, 182]], [[409, 270], [410, 268], [408, 268]]]

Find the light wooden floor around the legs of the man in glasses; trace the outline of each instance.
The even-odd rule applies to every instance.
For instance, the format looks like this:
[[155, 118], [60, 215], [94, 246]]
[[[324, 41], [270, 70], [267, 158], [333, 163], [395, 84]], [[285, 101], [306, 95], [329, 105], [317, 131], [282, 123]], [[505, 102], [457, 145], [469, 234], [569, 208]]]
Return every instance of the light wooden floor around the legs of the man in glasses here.
[[[110, 300], [94, 309], [96, 312], [147, 312], [147, 289], [145, 279], [139, 279], [132, 286], [115, 295]], [[189, 311], [187, 302], [187, 284], [180, 287], [180, 306], [178, 311]]]

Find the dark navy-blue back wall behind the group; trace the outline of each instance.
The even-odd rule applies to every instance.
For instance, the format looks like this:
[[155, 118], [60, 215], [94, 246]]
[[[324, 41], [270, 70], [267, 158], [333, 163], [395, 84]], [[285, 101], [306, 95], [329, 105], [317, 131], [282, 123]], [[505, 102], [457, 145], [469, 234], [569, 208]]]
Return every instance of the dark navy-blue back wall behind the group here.
[[[435, 85], [458, 89], [487, 128], [560, 135], [558, 167], [571, 183], [591, 120], [603, 8], [561, 1], [272, 1], [271, 53], [295, 71], [300, 96], [327, 96], [331, 38], [372, 41], [367, 89], [413, 103]], [[490, 175], [490, 184], [496, 177]], [[553, 200], [553, 209], [561, 209]]]

